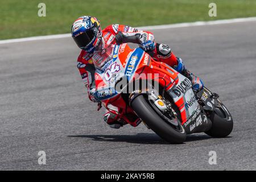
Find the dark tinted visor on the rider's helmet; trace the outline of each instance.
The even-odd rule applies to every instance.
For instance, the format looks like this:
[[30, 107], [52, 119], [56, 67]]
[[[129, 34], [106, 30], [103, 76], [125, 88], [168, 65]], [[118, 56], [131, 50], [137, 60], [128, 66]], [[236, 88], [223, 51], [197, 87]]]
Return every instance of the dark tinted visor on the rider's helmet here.
[[87, 30], [86, 32], [73, 38], [81, 49], [86, 49], [90, 45], [93, 39], [96, 38], [98, 34], [98, 29], [96, 27]]

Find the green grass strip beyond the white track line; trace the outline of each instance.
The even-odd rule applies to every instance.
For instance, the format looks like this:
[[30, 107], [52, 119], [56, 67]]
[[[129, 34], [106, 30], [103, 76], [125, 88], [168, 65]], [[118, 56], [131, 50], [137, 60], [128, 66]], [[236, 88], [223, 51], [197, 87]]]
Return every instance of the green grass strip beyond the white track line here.
[[[46, 3], [46, 17], [38, 4]], [[217, 17], [208, 16], [210, 2]], [[255, 0], [1, 0], [0, 39], [68, 33], [81, 15], [93, 15], [101, 26], [119, 23], [147, 26], [256, 16]]]

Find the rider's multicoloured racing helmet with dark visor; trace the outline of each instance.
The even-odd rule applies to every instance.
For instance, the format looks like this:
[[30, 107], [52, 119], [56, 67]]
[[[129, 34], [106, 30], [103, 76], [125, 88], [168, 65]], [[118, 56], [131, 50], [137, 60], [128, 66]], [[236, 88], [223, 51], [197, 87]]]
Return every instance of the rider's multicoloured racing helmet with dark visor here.
[[93, 52], [102, 39], [100, 21], [92, 16], [81, 16], [73, 23], [71, 34], [80, 49]]

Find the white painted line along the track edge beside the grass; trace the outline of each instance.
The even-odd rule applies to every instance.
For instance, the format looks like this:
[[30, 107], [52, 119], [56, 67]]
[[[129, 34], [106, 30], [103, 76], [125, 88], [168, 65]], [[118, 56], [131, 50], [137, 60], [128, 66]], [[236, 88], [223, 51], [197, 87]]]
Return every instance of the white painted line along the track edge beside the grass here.
[[[162, 25], [156, 25], [156, 26], [146, 26], [146, 27], [137, 27], [137, 28], [139, 28], [141, 30], [159, 30], [159, 29], [167, 29], [167, 28], [206, 26], [206, 25], [214, 25], [214, 24], [227, 24], [227, 23], [253, 22], [253, 21], [256, 21], [256, 17], [213, 20], [213, 21], [208, 21], [208, 22], [162, 24]], [[60, 38], [68, 38], [68, 37], [71, 37], [71, 35], [70, 34], [57, 34], [57, 35], [45, 35], [45, 36], [32, 36], [30, 38], [0, 40], [0, 44], [27, 42], [27, 41], [32, 41], [32, 40], [60, 39]]]

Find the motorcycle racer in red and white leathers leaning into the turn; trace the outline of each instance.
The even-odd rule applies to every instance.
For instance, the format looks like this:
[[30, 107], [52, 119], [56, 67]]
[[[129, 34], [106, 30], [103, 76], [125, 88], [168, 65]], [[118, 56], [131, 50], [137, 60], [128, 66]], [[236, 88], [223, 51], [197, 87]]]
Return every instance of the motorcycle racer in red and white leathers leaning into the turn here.
[[[88, 90], [89, 99], [93, 102], [98, 102], [94, 97], [96, 68], [102, 69], [106, 62], [113, 59], [114, 46], [123, 43], [139, 44], [139, 47], [153, 59], [170, 65], [191, 80], [195, 92], [204, 87], [203, 81], [185, 68], [183, 61], [174, 55], [169, 46], [154, 42], [154, 35], [150, 31], [141, 31], [121, 24], [112, 24], [101, 30], [100, 21], [97, 18], [81, 16], [73, 23], [71, 34], [77, 46], [82, 49], [77, 59], [77, 68]], [[115, 129], [126, 124], [118, 114], [109, 111], [104, 114], [104, 121]]]

